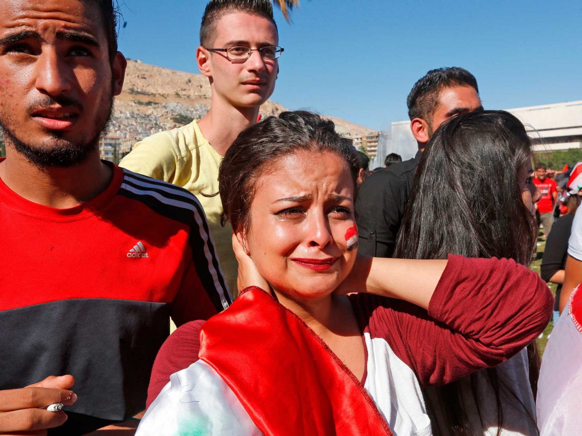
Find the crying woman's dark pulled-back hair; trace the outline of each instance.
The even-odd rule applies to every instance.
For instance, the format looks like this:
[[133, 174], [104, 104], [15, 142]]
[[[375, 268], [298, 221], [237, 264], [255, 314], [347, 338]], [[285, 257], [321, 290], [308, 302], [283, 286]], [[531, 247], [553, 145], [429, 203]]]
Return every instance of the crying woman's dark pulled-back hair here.
[[244, 129], [232, 143], [218, 173], [222, 224], [230, 221], [233, 230], [250, 226], [249, 209], [258, 178], [276, 169], [277, 161], [300, 151], [313, 153], [313, 170], [323, 152], [345, 160], [352, 174], [354, 195], [358, 174], [356, 150], [335, 131], [335, 125], [305, 110], [282, 112]]

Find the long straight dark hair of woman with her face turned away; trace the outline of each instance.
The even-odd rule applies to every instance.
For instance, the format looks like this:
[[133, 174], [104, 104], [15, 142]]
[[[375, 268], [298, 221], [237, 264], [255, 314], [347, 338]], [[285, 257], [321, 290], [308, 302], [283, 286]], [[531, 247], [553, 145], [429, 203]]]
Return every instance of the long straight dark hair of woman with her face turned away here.
[[[521, 199], [518, 174], [523, 174], [524, 167], [531, 168], [531, 142], [523, 124], [510, 113], [485, 110], [442, 124], [418, 166], [395, 257], [446, 259], [457, 254], [509, 258], [528, 265], [535, 246], [535, 219]], [[535, 396], [540, 363], [535, 344], [528, 346], [528, 357]], [[496, 369], [486, 374], [495, 392], [499, 435], [503, 425], [500, 392], [511, 395], [516, 407], [520, 400]], [[477, 375], [471, 374], [469, 381], [479, 410]], [[430, 395], [425, 391], [435, 435], [474, 434], [461, 386], [456, 381], [430, 389]], [[435, 419], [437, 411], [440, 423]]]

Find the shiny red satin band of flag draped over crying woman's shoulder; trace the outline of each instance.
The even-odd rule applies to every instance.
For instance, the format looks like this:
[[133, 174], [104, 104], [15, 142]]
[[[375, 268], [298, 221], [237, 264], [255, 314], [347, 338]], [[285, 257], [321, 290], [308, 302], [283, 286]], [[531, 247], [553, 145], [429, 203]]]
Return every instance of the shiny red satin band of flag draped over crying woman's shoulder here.
[[260, 288], [201, 332], [200, 359], [266, 435], [392, 435], [363, 385], [317, 334]]

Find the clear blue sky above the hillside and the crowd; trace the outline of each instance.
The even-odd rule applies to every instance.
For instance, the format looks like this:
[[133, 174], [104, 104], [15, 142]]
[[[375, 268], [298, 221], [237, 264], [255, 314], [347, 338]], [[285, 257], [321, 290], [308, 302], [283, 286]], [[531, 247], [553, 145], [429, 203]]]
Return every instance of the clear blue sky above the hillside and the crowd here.
[[[205, 0], [125, 0], [120, 50], [198, 73]], [[462, 66], [485, 108], [582, 99], [580, 0], [303, 0], [279, 10], [281, 73], [271, 99], [377, 130], [406, 119], [406, 96], [428, 70]]]

